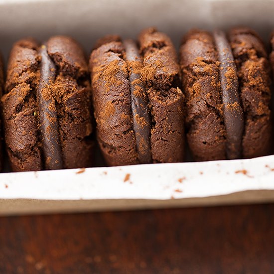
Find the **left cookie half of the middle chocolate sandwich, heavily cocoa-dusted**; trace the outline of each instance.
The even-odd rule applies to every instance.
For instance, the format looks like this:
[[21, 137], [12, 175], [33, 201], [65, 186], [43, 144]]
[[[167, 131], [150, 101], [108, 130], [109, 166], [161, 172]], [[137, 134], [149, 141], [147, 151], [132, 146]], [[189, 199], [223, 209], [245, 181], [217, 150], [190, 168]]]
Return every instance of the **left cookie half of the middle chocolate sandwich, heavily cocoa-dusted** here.
[[90, 56], [97, 139], [109, 165], [137, 164], [129, 71], [122, 42], [108, 42]]

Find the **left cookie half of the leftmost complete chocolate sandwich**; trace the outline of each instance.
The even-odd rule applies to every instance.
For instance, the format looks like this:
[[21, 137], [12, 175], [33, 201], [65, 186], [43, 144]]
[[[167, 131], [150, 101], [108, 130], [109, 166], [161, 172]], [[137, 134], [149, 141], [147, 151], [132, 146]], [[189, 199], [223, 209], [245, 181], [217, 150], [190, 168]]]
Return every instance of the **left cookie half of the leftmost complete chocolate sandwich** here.
[[13, 171], [41, 170], [38, 108], [34, 92], [39, 79], [38, 43], [14, 44], [7, 66], [6, 94], [1, 98], [6, 150]]

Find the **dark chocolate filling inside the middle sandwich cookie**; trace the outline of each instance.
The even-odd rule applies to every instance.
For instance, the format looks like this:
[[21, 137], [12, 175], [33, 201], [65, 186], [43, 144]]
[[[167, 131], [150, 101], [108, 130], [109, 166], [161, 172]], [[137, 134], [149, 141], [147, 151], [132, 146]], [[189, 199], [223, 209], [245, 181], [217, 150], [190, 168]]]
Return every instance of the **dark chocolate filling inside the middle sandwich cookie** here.
[[131, 107], [133, 130], [135, 132], [137, 154], [140, 163], [151, 163], [150, 115], [145, 87], [140, 79], [141, 58], [136, 43], [125, 40], [126, 61], [130, 70]]

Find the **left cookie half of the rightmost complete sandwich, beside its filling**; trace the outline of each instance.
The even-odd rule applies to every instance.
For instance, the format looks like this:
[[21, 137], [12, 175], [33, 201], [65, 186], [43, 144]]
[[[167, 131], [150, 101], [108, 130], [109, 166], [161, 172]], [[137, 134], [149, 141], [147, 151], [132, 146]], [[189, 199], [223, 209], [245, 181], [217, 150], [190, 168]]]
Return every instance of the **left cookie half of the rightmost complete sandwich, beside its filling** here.
[[186, 97], [186, 128], [195, 160], [226, 159], [218, 54], [213, 37], [201, 30], [187, 33], [180, 47]]

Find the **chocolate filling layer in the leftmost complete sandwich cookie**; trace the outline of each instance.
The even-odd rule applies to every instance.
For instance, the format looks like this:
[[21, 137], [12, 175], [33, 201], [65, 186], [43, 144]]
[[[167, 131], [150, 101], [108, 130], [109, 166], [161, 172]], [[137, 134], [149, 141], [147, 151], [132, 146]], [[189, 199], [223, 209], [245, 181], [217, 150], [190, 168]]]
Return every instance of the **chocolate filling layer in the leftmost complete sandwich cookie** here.
[[42, 45], [39, 50], [41, 56], [40, 80], [37, 88], [37, 103], [40, 116], [40, 130], [45, 158], [45, 169], [63, 168], [59, 127], [55, 100], [48, 86], [55, 80], [56, 67], [47, 53], [47, 47]]

